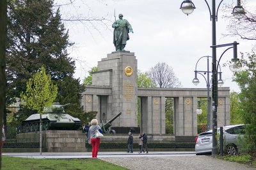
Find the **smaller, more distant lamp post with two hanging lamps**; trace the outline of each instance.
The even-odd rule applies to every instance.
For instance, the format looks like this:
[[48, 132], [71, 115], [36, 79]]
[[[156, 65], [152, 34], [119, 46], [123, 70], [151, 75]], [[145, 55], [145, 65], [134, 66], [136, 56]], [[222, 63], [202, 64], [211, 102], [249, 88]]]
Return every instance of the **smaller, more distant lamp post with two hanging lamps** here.
[[[197, 64], [198, 62], [203, 59], [203, 58], [207, 58], [207, 71], [202, 71], [202, 70], [197, 70]], [[210, 75], [209, 73], [211, 73], [209, 71], [209, 58], [211, 58], [211, 56], [203, 56], [200, 59], [198, 59], [198, 61], [196, 62], [196, 67], [195, 67], [195, 78], [193, 79], [193, 84], [198, 85], [199, 84], [199, 79], [197, 78], [197, 74], [199, 73], [200, 75], [202, 75], [205, 79], [206, 82], [206, 87], [207, 87], [207, 130], [210, 130], [210, 109], [211, 109], [211, 97], [210, 97]], [[220, 65], [218, 65], [220, 66]], [[221, 68], [220, 68], [221, 69]], [[220, 70], [221, 71], [221, 70]], [[204, 74], [207, 73], [207, 79], [205, 78]], [[218, 72], [220, 74], [220, 79], [218, 80], [218, 86], [223, 86], [223, 80], [221, 79], [221, 72]]]

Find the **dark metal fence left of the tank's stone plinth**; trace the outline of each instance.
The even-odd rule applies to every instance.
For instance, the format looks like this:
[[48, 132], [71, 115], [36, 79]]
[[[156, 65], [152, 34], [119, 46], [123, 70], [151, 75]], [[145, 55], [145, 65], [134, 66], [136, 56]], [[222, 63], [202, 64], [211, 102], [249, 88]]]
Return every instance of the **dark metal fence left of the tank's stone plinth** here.
[[[7, 126], [4, 148], [40, 148], [40, 133], [20, 132], [20, 126]], [[45, 130], [42, 130], [42, 148], [45, 148]]]

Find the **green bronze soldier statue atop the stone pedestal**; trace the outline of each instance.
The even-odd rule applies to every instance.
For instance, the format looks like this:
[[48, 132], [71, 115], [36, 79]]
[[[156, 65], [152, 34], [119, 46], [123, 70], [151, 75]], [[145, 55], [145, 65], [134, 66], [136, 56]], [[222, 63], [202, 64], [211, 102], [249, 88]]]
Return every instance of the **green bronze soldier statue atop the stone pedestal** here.
[[127, 40], [129, 40], [129, 32], [133, 33], [132, 26], [128, 20], [123, 19], [122, 13], [120, 13], [118, 17], [119, 19], [112, 24], [112, 27], [115, 28], [113, 43], [116, 47], [116, 51], [125, 51], [124, 47]]

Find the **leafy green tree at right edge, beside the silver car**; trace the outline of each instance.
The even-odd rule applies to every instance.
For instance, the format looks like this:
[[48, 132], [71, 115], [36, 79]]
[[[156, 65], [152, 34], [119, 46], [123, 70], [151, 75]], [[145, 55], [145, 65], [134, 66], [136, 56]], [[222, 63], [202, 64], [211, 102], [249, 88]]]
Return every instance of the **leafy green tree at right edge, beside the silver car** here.
[[234, 81], [237, 82], [241, 93], [241, 118], [246, 124], [246, 142], [250, 144], [252, 151], [256, 146], [256, 54], [246, 54], [248, 59], [244, 59], [242, 54], [241, 62], [244, 70], [235, 73]]

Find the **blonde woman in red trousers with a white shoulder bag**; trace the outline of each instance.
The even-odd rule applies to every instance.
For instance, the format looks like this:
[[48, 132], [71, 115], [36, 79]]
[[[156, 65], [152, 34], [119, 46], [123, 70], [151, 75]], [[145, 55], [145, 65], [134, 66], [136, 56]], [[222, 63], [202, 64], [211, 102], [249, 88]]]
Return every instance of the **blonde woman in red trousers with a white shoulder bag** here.
[[100, 146], [100, 138], [96, 137], [96, 132], [99, 130], [102, 133], [102, 129], [98, 125], [98, 120], [93, 119], [91, 121], [91, 127], [89, 128], [88, 132], [88, 143], [92, 144], [92, 157], [97, 158], [99, 146]]

